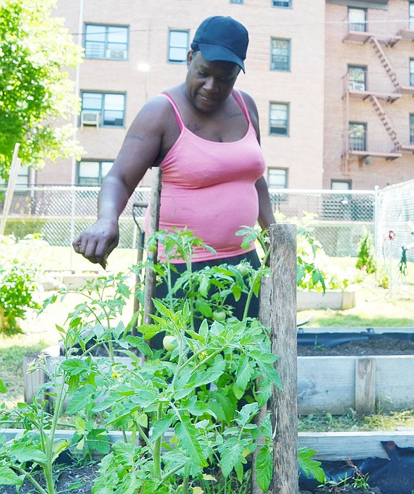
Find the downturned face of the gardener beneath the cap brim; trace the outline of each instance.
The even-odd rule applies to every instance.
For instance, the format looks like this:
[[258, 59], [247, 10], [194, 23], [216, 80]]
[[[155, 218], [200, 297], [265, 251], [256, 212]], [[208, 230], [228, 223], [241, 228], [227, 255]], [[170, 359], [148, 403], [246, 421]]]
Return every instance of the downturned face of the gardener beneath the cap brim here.
[[201, 113], [213, 114], [231, 94], [240, 67], [233, 62], [207, 61], [200, 51], [188, 54], [186, 95]]

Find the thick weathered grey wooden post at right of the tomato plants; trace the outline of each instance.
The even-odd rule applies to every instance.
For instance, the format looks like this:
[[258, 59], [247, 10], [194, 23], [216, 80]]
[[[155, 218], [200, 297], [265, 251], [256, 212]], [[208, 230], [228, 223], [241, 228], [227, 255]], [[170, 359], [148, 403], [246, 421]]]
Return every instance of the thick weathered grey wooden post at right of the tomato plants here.
[[298, 493], [298, 348], [296, 335], [296, 226], [271, 231], [271, 345], [283, 390], [273, 389], [271, 493]]

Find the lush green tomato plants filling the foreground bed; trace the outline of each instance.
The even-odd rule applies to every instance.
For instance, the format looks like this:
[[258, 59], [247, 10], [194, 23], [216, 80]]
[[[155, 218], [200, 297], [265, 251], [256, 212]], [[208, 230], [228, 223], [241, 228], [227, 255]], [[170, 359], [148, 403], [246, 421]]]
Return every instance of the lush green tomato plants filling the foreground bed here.
[[[138, 280], [144, 268], [171, 280], [165, 271], [171, 258], [180, 251], [188, 261], [193, 246], [200, 245], [188, 232], [157, 235], [163, 236], [168, 259], [162, 266], [148, 261], [133, 268]], [[0, 425], [22, 428], [0, 448], [5, 481], [19, 485], [27, 478], [40, 493], [55, 494], [53, 470], [59, 454], [71, 450], [90, 458], [97, 450], [104, 458], [92, 493], [246, 493], [247, 457], [257, 450], [257, 483], [268, 490], [272, 426], [270, 415], [259, 422], [258, 410], [268, 402], [273, 386], [281, 388], [268, 328], [257, 318], [238, 321], [229, 313], [224, 321], [203, 318], [197, 331], [193, 320], [193, 311], [203, 316], [207, 310], [201, 301], [208, 300], [210, 285], [223, 292], [213, 307], [226, 307], [230, 294], [253, 294], [267, 272], [264, 261], [266, 256], [256, 271], [242, 263], [219, 266], [202, 276], [191, 273], [187, 262], [188, 272], [178, 278], [178, 286], [190, 297], [154, 300], [153, 323], [139, 325], [139, 336], [132, 330], [141, 313], [128, 324], [121, 318], [136, 276], [117, 273], [86, 283], [79, 290], [84, 301], [57, 327], [64, 360], [51, 366], [40, 356], [34, 368], [46, 373], [49, 382], [33, 404], [19, 403], [0, 420]], [[138, 283], [140, 300], [143, 288]], [[171, 286], [171, 294], [175, 290]], [[148, 339], [160, 332], [176, 341], [171, 351], [148, 346]], [[128, 356], [128, 363], [120, 356]], [[55, 434], [65, 407], [74, 415], [71, 445]], [[109, 450], [110, 429], [121, 430], [123, 438]], [[311, 454], [301, 453], [301, 462], [306, 473], [320, 474]], [[44, 473], [47, 491], [33, 475], [36, 468]]]

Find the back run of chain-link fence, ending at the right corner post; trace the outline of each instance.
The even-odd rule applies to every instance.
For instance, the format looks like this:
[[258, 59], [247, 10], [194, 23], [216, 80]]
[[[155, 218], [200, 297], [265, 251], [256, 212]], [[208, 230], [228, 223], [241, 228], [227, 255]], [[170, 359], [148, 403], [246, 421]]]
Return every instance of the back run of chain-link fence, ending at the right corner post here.
[[[5, 190], [0, 188], [0, 194]], [[18, 238], [39, 233], [51, 246], [71, 246], [72, 240], [94, 223], [98, 193], [98, 187], [16, 188], [5, 233]], [[271, 189], [270, 194], [276, 218], [295, 218], [306, 224], [328, 256], [356, 256], [364, 232], [375, 231], [375, 191]], [[148, 201], [149, 195], [149, 188], [139, 187], [128, 201], [120, 218], [119, 248], [136, 248], [133, 203]], [[3, 206], [0, 203], [0, 214]], [[142, 221], [145, 209], [137, 213]]]

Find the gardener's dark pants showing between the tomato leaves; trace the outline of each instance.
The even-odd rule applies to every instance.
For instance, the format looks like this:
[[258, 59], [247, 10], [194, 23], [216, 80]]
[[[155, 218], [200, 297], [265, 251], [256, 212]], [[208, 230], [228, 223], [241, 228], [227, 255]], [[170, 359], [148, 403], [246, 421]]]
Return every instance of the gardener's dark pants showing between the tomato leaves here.
[[[221, 259], [212, 259], [211, 261], [197, 261], [191, 263], [191, 269], [192, 271], [200, 271], [203, 268], [206, 268], [207, 266], [220, 266], [221, 264], [230, 264], [231, 266], [236, 266], [238, 263], [241, 261], [248, 261], [251, 263], [251, 266], [254, 269], [258, 269], [261, 265], [261, 262], [258, 258], [258, 255], [256, 251], [250, 251], [246, 252], [243, 254], [240, 254], [239, 256], [233, 256], [233, 257], [228, 257], [228, 258], [221, 258]], [[177, 280], [177, 278], [186, 271], [186, 264], [185, 263], [180, 263], [180, 264], [174, 264], [174, 266], [177, 269], [177, 273], [171, 272], [171, 280], [172, 284], [174, 284]], [[167, 296], [167, 285], [166, 283], [161, 283], [156, 287], [156, 298], [166, 298]], [[179, 296], [179, 294], [176, 294], [176, 296]], [[233, 297], [229, 296], [228, 299], [226, 300], [226, 303], [228, 305], [233, 307], [233, 316], [238, 318], [240, 321], [243, 318], [243, 313], [244, 309], [246, 307], [246, 302], [247, 302], [247, 294], [242, 293], [241, 298], [238, 299], [238, 301], [235, 301]], [[251, 318], [257, 318], [258, 317], [258, 298], [253, 295], [251, 299], [251, 303], [248, 309], [248, 317]], [[151, 346], [152, 348], [161, 348], [162, 347], [162, 340], [163, 340], [164, 333], [158, 333], [158, 335], [154, 336], [151, 340]]]

